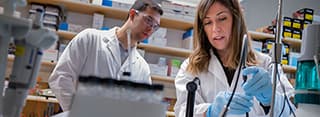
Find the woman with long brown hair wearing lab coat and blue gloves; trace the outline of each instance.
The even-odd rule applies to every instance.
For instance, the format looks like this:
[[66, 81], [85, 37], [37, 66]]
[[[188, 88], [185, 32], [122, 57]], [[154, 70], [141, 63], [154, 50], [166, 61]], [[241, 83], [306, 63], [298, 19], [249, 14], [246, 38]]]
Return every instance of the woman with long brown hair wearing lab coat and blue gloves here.
[[[181, 65], [175, 79], [177, 117], [185, 117], [186, 84], [195, 77], [200, 85], [195, 94], [194, 116], [216, 117], [227, 104], [235, 87], [240, 64], [242, 37], [247, 34], [238, 0], [201, 0], [194, 24], [195, 50]], [[249, 39], [250, 42], [250, 39]], [[266, 116], [272, 97], [271, 58], [254, 51], [249, 43], [247, 68], [240, 71], [238, 85], [227, 116]], [[288, 96], [293, 88], [279, 68], [280, 79]], [[248, 77], [247, 81], [242, 76]], [[291, 102], [284, 103], [283, 90], [278, 82], [275, 114], [290, 115]], [[283, 112], [282, 111], [283, 108]]]

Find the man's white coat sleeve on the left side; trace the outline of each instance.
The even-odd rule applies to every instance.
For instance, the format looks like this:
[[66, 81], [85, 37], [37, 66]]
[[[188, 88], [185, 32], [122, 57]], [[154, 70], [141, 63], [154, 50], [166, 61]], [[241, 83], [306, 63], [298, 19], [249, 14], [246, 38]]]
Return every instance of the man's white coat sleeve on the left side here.
[[56, 95], [62, 109], [67, 111], [71, 106], [72, 95], [78, 75], [84, 64], [90, 29], [80, 32], [65, 48], [48, 80], [49, 86]]

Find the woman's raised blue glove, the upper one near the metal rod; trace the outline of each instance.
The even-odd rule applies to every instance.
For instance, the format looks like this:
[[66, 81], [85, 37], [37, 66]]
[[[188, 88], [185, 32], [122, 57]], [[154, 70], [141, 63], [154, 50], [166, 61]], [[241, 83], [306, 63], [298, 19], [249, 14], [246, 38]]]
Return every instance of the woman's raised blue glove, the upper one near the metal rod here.
[[252, 78], [248, 79], [242, 86], [245, 94], [255, 96], [257, 100], [265, 106], [270, 105], [272, 96], [270, 74], [263, 68], [255, 66], [243, 69], [242, 75], [250, 74], [252, 74]]

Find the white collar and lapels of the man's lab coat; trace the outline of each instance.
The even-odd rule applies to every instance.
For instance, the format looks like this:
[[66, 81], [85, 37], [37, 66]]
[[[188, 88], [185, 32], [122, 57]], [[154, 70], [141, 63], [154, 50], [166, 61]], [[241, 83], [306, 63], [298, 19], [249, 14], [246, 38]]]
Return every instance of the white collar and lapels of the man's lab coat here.
[[[120, 55], [120, 46], [119, 46], [119, 40], [118, 37], [116, 35], [116, 31], [119, 29], [119, 27], [114, 27], [112, 29], [110, 29], [108, 35], [111, 35], [110, 38], [107, 41], [107, 48], [111, 51], [112, 56], [114, 57], [114, 59], [116, 60], [116, 64], [121, 66], [121, 55]], [[133, 47], [131, 49], [131, 54], [132, 54], [132, 63], [135, 63], [138, 59], [138, 57], [136, 57], [136, 46]], [[128, 63], [128, 59], [125, 61], [125, 63]], [[126, 65], [126, 64], [124, 64]]]

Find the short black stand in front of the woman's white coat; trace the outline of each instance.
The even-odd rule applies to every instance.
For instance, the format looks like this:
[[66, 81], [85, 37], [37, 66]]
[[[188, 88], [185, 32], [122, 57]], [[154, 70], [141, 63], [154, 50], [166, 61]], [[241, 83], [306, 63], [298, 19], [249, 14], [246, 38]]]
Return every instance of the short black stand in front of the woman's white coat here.
[[194, 78], [193, 81], [187, 83], [186, 88], [188, 90], [188, 99], [187, 99], [187, 110], [186, 117], [193, 117], [193, 109], [194, 109], [194, 99], [196, 90], [198, 88], [198, 84], [200, 85], [200, 80], [198, 77]]

